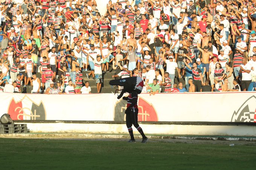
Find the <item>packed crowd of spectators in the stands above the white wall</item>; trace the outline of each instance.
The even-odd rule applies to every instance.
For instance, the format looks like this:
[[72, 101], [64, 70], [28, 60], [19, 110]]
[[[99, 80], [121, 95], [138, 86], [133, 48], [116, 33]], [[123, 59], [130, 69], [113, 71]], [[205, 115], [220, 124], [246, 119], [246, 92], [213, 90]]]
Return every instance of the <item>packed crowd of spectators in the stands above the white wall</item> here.
[[256, 89], [255, 0], [1, 3], [0, 92], [100, 93], [111, 65], [150, 95]]

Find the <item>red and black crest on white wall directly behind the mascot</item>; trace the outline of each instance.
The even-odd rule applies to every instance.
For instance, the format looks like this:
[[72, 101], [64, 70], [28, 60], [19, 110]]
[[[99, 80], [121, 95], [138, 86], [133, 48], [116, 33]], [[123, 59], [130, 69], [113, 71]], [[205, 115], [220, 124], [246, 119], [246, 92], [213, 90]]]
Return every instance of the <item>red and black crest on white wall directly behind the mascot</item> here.
[[[115, 105], [114, 120], [125, 121], [125, 109], [127, 101], [119, 100]], [[157, 112], [154, 105], [139, 97], [138, 99], [138, 121], [158, 121]]]

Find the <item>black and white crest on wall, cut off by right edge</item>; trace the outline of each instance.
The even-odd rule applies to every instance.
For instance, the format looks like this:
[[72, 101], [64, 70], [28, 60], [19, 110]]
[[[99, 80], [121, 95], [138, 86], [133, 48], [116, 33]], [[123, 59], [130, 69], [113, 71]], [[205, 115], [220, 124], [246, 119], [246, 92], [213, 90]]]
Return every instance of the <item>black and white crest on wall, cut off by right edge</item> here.
[[231, 122], [256, 122], [256, 96], [248, 98], [234, 111]]

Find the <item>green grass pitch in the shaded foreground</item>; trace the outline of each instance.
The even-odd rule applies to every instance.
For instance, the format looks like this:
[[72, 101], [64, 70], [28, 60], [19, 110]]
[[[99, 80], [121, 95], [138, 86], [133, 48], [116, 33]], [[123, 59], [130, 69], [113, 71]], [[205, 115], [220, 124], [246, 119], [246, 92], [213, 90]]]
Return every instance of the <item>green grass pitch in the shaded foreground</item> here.
[[0, 138], [9, 169], [255, 169], [256, 146]]

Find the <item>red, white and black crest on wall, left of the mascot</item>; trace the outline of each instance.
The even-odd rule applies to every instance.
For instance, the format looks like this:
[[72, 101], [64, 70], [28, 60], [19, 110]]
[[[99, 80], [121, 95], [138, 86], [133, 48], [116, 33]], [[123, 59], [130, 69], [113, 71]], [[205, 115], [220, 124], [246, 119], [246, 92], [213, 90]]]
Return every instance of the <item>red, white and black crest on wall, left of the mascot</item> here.
[[46, 120], [43, 103], [37, 104], [26, 95], [20, 101], [12, 98], [7, 113], [13, 120]]

